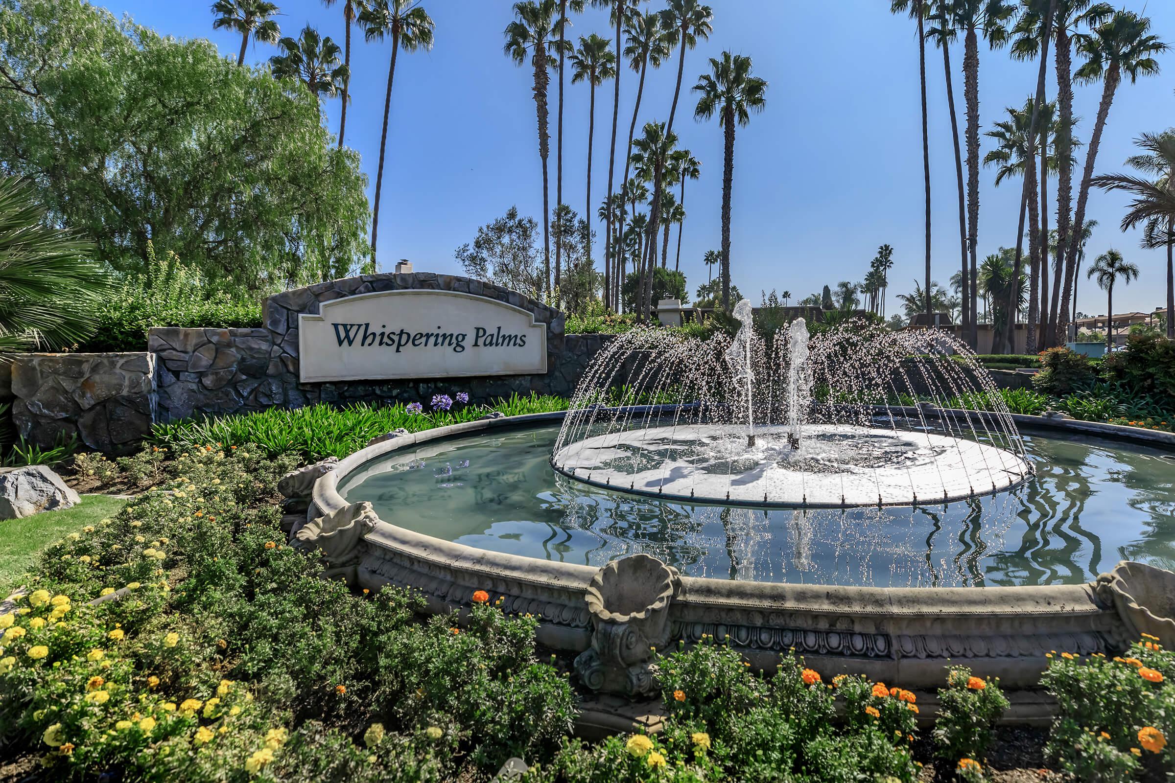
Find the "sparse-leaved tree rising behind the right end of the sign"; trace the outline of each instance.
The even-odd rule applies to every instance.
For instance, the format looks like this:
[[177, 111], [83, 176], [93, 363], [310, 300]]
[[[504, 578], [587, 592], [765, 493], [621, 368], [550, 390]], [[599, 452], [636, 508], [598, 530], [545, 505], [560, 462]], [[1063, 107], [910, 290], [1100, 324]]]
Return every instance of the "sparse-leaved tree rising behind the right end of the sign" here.
[[457, 248], [465, 274], [537, 299], [543, 291], [542, 269], [535, 247], [538, 221], [519, 217], [511, 207], [503, 217], [477, 229], [474, 244]]

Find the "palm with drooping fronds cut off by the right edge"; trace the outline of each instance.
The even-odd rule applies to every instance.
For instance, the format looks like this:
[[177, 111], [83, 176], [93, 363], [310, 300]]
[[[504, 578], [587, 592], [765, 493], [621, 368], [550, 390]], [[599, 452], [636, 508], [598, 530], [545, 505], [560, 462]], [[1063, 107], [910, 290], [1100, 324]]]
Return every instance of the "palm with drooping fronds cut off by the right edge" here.
[[[1143, 247], [1167, 248], [1167, 312], [1175, 313], [1175, 130], [1142, 134], [1134, 141], [1141, 155], [1126, 158], [1126, 164], [1143, 175], [1103, 174], [1093, 184], [1103, 190], [1124, 190], [1134, 196], [1122, 218], [1122, 230], [1142, 223], [1146, 227]], [[1175, 339], [1175, 318], [1167, 318], [1167, 338]]]

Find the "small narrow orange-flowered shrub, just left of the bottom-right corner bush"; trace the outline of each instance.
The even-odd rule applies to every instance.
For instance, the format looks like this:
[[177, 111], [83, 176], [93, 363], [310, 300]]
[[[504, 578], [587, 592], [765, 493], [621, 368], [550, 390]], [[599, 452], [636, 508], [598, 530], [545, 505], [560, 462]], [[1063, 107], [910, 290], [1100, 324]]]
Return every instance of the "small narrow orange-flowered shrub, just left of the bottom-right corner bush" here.
[[980, 762], [992, 743], [992, 727], [1007, 708], [999, 679], [981, 680], [965, 666], [951, 667], [947, 687], [939, 688], [935, 755], [953, 764], [964, 758]]

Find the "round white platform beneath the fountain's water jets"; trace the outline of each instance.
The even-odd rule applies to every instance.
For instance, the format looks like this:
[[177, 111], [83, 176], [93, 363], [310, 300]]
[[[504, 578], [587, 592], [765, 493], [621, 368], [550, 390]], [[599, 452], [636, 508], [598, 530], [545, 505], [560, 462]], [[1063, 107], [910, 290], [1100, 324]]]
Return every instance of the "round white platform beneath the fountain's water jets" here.
[[811, 424], [746, 431], [692, 424], [609, 432], [552, 454], [570, 478], [667, 500], [765, 508], [909, 506], [974, 498], [1032, 467], [995, 446], [935, 432]]

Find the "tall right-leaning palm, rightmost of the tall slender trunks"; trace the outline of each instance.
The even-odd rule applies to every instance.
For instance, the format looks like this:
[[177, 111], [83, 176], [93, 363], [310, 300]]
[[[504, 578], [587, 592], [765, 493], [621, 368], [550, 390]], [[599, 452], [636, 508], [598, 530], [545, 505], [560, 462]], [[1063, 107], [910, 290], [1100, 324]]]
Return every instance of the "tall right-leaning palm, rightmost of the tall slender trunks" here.
[[[1149, 31], [1150, 20], [1148, 18], [1130, 11], [1119, 11], [1089, 33], [1080, 33], [1074, 36], [1077, 42], [1077, 52], [1086, 58], [1074, 76], [1085, 83], [1093, 83], [1101, 79], [1102, 95], [1097, 104], [1094, 129], [1089, 136], [1089, 147], [1086, 150], [1086, 168], [1077, 189], [1077, 205], [1073, 211], [1073, 231], [1068, 236], [1068, 248], [1066, 248], [1065, 295], [1068, 295], [1070, 288], [1068, 270], [1073, 269], [1074, 274], [1076, 272], [1077, 245], [1082, 223], [1086, 220], [1086, 202], [1089, 198], [1089, 185], [1093, 183], [1094, 162], [1097, 158], [1097, 147], [1101, 144], [1101, 135], [1106, 129], [1106, 117], [1109, 116], [1114, 93], [1123, 73], [1130, 77], [1130, 83], [1136, 82], [1139, 76], [1157, 74], [1159, 62], [1153, 55], [1169, 48]], [[1062, 312], [1062, 315], [1067, 316], [1068, 313]], [[1058, 332], [1067, 325], [1067, 320], [1066, 317], [1058, 322]]]

